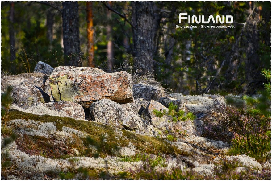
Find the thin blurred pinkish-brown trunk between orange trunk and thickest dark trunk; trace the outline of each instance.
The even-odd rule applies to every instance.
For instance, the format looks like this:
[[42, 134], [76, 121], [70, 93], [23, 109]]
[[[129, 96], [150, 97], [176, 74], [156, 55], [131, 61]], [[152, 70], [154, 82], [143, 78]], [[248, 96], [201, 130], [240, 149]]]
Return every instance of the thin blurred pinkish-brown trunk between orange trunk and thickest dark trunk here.
[[[109, 5], [111, 6], [111, 2], [109, 2]], [[111, 19], [111, 11], [110, 10], [108, 10], [107, 18], [110, 21], [110, 19]], [[112, 43], [112, 36], [111, 36], [112, 28], [111, 28], [110, 23], [107, 24], [106, 29], [107, 29], [107, 41], [108, 41], [108, 44], [107, 44], [108, 68], [110, 70], [112, 70], [112, 67], [113, 67], [113, 43]]]

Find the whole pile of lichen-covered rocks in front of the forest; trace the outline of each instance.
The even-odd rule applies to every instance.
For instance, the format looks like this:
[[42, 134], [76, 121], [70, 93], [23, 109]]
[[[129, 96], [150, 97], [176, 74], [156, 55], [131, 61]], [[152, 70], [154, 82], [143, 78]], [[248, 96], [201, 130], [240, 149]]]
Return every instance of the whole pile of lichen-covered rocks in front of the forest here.
[[[125, 71], [106, 73], [89, 67], [52, 68], [38, 62], [35, 72], [2, 78], [3, 91], [8, 86], [13, 87], [13, 109], [97, 121], [150, 136], [173, 132], [170, 118], [158, 118], [153, 113], [154, 109], [167, 111], [170, 102], [178, 105], [177, 111], [190, 110], [196, 114], [205, 114], [212, 106], [224, 104], [224, 97], [220, 96], [179, 93], [168, 96], [162, 87], [143, 83], [132, 85], [131, 75]], [[176, 128], [186, 130], [187, 135], [200, 136], [204, 126], [202, 117], [198, 115], [197, 120], [178, 122]]]

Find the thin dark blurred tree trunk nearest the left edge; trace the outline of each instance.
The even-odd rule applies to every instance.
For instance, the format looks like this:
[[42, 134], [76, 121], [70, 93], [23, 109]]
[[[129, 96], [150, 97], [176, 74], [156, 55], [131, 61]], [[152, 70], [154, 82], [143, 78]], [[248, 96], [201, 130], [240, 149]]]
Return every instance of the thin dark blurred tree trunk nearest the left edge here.
[[[14, 2], [10, 2], [10, 15], [9, 15], [9, 36], [10, 36], [10, 62], [15, 60], [15, 33], [14, 33]], [[15, 66], [11, 66], [11, 72], [15, 73]]]

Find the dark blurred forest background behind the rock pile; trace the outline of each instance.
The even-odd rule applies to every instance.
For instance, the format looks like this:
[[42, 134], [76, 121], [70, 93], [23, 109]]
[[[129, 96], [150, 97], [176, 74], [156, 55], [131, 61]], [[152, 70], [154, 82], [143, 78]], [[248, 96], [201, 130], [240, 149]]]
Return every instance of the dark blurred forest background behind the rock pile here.
[[[64, 54], [77, 53], [79, 65], [108, 71], [129, 60], [184, 94], [254, 94], [268, 82], [270, 2], [77, 4], [80, 50], [65, 53], [62, 2], [2, 2], [2, 75], [32, 72], [38, 61], [65, 65]], [[175, 28], [180, 12], [232, 15], [236, 27]]]

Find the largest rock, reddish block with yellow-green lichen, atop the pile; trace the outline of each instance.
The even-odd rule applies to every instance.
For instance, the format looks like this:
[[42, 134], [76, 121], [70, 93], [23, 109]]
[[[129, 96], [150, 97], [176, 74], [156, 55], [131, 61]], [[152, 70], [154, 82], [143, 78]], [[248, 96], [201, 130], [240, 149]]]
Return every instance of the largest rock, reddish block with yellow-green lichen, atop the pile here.
[[56, 67], [48, 79], [56, 101], [78, 102], [85, 107], [103, 98], [118, 103], [133, 101], [131, 75], [125, 71], [106, 73], [90, 67]]

